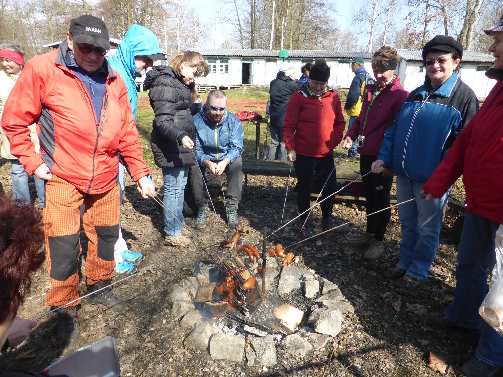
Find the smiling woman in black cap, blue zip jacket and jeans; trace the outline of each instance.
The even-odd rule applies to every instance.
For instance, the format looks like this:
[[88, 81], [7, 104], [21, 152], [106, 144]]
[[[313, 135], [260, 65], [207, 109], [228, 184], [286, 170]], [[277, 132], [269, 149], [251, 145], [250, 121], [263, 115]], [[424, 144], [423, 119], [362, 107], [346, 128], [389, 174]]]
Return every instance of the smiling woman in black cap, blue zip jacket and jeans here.
[[384, 272], [400, 288], [413, 289], [428, 278], [450, 190], [435, 200], [420, 198], [421, 190], [478, 110], [475, 93], [457, 73], [462, 55], [463, 45], [452, 37], [437, 35], [425, 44], [425, 83], [405, 100], [372, 164], [375, 173], [387, 166], [396, 174], [398, 203], [415, 199], [398, 206], [400, 261]]

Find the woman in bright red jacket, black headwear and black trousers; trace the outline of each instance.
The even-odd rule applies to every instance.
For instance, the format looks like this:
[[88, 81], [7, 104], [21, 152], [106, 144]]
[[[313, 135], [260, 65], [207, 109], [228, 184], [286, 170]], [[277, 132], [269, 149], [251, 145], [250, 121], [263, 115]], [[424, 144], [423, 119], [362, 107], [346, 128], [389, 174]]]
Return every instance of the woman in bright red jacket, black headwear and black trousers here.
[[[317, 59], [309, 72], [309, 83], [295, 91], [287, 104], [283, 137], [297, 174], [297, 206], [299, 212], [309, 209], [311, 184], [316, 174], [318, 182], [326, 185], [322, 199], [336, 191], [336, 172], [333, 148], [342, 139], [344, 121], [341, 100], [334, 89], [327, 87], [330, 67], [325, 59]], [[334, 198], [321, 203], [324, 230], [335, 225], [332, 218]], [[301, 217], [302, 223], [307, 213]], [[314, 223], [308, 220], [302, 228], [305, 238], [314, 236]]]

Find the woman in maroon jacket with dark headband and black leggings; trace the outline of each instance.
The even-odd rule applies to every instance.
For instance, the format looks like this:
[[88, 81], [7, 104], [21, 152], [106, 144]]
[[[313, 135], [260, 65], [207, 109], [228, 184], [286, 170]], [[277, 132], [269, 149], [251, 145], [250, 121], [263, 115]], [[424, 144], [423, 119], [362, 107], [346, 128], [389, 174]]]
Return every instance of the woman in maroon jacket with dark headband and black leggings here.
[[[358, 140], [360, 154], [360, 172], [370, 172], [372, 162], [379, 155], [379, 148], [384, 139], [384, 132], [391, 127], [407, 92], [400, 85], [400, 78], [394, 74], [398, 64], [398, 53], [394, 48], [381, 47], [372, 57], [375, 84], [367, 87], [360, 116], [346, 133], [344, 148], [350, 149], [353, 141]], [[389, 207], [389, 196], [393, 184], [393, 172], [385, 169], [382, 174], [369, 174], [362, 177], [365, 191], [367, 215]], [[391, 210], [369, 216], [365, 234], [348, 238], [353, 245], [368, 245], [365, 259], [376, 260], [384, 251], [383, 239]]]

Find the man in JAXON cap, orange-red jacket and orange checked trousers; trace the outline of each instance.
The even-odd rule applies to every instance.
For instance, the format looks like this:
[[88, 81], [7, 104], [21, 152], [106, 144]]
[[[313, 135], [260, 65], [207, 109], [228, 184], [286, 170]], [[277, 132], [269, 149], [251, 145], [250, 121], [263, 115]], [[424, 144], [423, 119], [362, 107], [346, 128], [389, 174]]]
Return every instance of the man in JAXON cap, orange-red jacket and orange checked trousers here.
[[[79, 339], [80, 206], [86, 207], [86, 284], [93, 292], [108, 286], [114, 274], [119, 152], [141, 195], [155, 195], [126, 85], [105, 60], [109, 48], [102, 20], [89, 15], [71, 20], [57, 50], [26, 63], [2, 116], [11, 153], [28, 174], [47, 181], [43, 223], [51, 289], [46, 302], [51, 307], [68, 304], [57, 315], [58, 336], [69, 344]], [[34, 122], [40, 154], [29, 138], [28, 125]], [[89, 301], [118, 312], [127, 309], [111, 287]]]

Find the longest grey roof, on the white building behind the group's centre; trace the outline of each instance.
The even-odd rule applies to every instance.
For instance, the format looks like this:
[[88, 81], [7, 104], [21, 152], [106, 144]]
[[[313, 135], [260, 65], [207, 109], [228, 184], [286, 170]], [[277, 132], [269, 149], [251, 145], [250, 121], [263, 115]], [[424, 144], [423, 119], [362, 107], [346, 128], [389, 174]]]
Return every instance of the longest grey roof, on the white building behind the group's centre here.
[[[194, 51], [204, 56], [239, 56], [239, 57], [262, 57], [278, 58], [280, 50], [252, 50], [252, 49], [226, 49], [226, 48], [194, 48]], [[360, 56], [364, 59], [371, 59], [370, 52], [355, 51], [324, 51], [324, 50], [288, 50], [290, 58], [327, 58], [327, 59], [352, 59]]]

